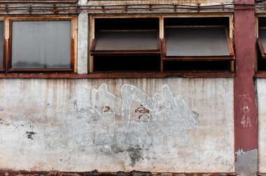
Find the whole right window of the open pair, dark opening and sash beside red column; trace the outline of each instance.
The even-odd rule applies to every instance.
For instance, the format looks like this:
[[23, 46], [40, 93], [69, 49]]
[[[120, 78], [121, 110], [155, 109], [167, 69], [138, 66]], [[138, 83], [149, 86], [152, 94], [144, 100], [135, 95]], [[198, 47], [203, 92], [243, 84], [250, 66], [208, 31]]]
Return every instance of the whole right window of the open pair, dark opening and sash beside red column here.
[[166, 17], [164, 71], [230, 71], [229, 17]]

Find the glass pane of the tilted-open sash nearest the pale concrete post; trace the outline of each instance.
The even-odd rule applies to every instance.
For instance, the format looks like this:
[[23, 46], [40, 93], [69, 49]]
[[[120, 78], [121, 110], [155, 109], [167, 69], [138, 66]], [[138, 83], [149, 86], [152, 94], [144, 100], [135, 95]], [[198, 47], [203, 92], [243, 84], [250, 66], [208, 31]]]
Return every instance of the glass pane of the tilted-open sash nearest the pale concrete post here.
[[95, 50], [158, 50], [158, 31], [98, 31]]

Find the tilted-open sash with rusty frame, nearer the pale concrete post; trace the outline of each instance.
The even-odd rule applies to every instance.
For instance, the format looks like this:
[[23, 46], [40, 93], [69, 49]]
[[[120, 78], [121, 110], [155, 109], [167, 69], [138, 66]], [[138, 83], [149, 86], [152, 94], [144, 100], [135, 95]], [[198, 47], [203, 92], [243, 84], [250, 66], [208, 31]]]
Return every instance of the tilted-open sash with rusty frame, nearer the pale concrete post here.
[[91, 55], [160, 54], [157, 30], [101, 30], [92, 42]]

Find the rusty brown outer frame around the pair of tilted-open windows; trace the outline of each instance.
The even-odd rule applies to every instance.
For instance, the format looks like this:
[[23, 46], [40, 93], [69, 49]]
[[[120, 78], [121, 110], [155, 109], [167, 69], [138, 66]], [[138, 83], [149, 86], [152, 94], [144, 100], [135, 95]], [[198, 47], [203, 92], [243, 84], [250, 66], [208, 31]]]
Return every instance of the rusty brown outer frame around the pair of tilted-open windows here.
[[[159, 20], [159, 38], [161, 40], [161, 64], [160, 64], [160, 72], [159, 73], [191, 73], [191, 72], [198, 72], [198, 73], [208, 73], [209, 71], [164, 71], [163, 65], [164, 65], [164, 61], [230, 61], [230, 70], [228, 71], [221, 71], [223, 72], [230, 72], [233, 73], [235, 71], [235, 52], [233, 49], [233, 33], [232, 33], [232, 29], [233, 29], [233, 24], [232, 24], [232, 18], [233, 15], [232, 13], [228, 14], [191, 14], [191, 15], [185, 15], [185, 14], [181, 14], [181, 15], [117, 15], [117, 16], [113, 16], [113, 15], [90, 15], [90, 53], [89, 53], [89, 61], [88, 61], [88, 72], [91, 74], [104, 74], [103, 73], [99, 73], [99, 72], [94, 72], [94, 59], [93, 56], [96, 54], [96, 52], [94, 51], [94, 47], [95, 47], [95, 34], [94, 34], [94, 20], [97, 18], [148, 18], [148, 17], [158, 17], [160, 18]], [[200, 56], [200, 57], [167, 57], [166, 56], [166, 44], [165, 44], [165, 25], [164, 25], [164, 19], [166, 17], [228, 17], [229, 18], [229, 31], [228, 29], [225, 27], [225, 31], [227, 34], [227, 40], [228, 40], [228, 47], [229, 47], [229, 52], [230, 55], [228, 56]], [[218, 25], [216, 25], [216, 27], [218, 27]], [[113, 52], [114, 53], [114, 52]], [[113, 54], [112, 52], [106, 52], [106, 53], [102, 53], [102, 54]], [[130, 54], [130, 51], [125, 51], [124, 53], [120, 52], [120, 53], [116, 53], [116, 54]], [[215, 63], [214, 63], [215, 64]], [[216, 71], [212, 71], [212, 72], [216, 72]], [[150, 73], [150, 72], [148, 72]], [[109, 74], [114, 74], [113, 72], [110, 72]], [[146, 74], [146, 73], [139, 73], [139, 74]], [[157, 73], [154, 73], [157, 74]]]

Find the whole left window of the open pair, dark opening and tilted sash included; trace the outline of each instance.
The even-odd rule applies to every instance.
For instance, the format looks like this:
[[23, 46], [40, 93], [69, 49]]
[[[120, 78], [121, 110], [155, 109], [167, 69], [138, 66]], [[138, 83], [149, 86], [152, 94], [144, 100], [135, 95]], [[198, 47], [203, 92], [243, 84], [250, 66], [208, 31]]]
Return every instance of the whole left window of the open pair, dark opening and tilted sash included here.
[[160, 71], [159, 18], [95, 19], [95, 29], [94, 72]]

